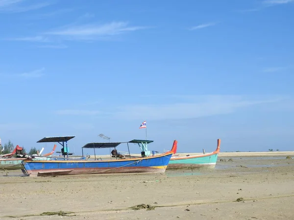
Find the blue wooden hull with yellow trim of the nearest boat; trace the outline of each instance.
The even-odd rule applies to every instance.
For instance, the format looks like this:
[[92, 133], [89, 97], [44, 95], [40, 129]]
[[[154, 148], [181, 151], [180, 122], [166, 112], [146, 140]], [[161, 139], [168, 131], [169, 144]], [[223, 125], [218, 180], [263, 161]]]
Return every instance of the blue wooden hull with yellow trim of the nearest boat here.
[[164, 173], [172, 153], [118, 160], [65, 160], [33, 161], [24, 160], [23, 172], [28, 176], [61, 176], [111, 173]]

